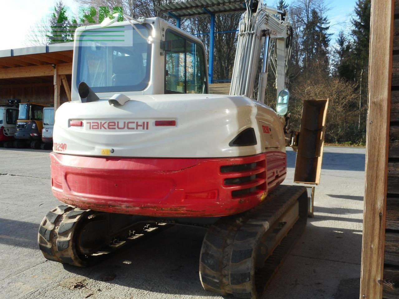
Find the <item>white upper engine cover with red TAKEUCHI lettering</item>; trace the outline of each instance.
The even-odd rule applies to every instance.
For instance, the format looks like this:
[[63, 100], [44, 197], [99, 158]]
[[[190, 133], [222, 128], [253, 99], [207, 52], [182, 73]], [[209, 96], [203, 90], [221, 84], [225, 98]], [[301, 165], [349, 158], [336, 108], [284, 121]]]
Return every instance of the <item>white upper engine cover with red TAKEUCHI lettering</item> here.
[[[162, 120], [174, 122], [158, 126]], [[255, 142], [232, 144], [251, 128]], [[269, 106], [215, 94], [136, 95], [119, 106], [107, 98], [67, 102], [56, 111], [53, 142], [57, 153], [82, 156], [213, 158], [285, 152], [282, 124]]]

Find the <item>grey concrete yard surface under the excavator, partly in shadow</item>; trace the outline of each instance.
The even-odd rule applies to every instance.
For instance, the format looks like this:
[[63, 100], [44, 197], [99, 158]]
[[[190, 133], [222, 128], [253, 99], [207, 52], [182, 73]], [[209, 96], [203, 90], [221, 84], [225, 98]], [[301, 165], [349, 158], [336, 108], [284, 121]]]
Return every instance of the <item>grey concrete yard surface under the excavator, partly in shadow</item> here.
[[[172, 227], [91, 268], [46, 261], [38, 227], [58, 204], [48, 153], [0, 149], [0, 298], [223, 298], [199, 282], [201, 228]], [[287, 155], [290, 184], [295, 153]], [[358, 298], [364, 161], [364, 148], [324, 148], [314, 218], [265, 298]]]

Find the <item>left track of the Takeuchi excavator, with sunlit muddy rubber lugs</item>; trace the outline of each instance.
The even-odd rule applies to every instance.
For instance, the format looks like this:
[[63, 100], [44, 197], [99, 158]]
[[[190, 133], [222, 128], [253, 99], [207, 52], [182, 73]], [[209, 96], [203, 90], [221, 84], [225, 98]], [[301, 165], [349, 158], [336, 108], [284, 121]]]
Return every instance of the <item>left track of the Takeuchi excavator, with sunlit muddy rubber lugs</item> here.
[[142, 220], [129, 214], [60, 205], [41, 221], [39, 248], [47, 260], [79, 267], [93, 265], [126, 244], [169, 227]]

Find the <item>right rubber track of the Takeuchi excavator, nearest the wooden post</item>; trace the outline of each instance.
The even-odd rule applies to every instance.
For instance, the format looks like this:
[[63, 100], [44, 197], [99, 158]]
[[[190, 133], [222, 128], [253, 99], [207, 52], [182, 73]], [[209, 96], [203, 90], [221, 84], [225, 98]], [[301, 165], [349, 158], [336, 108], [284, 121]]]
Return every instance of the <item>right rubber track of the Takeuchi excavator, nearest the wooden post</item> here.
[[[255, 258], [259, 239], [300, 199], [300, 218], [261, 269]], [[307, 221], [306, 188], [280, 185], [257, 207], [213, 224], [203, 240], [199, 276], [204, 289], [238, 298], [258, 298], [265, 291]], [[256, 271], [255, 271], [256, 270]]]

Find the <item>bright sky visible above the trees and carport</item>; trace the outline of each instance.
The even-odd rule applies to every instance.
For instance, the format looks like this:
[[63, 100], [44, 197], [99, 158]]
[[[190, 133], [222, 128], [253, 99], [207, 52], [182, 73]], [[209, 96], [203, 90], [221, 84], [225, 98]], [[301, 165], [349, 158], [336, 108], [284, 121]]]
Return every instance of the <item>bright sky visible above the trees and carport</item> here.
[[[42, 18], [51, 12], [56, 0], [13, 0], [7, 3], [8, 12], [18, 12], [18, 14], [3, 13], [0, 17], [0, 50], [16, 49], [27, 47], [27, 34], [31, 26], [35, 26]], [[65, 6], [69, 7], [75, 14], [79, 10], [74, 0], [63, 0]], [[286, 0], [290, 4], [293, 0]], [[39, 3], [39, 4], [38, 4]], [[271, 2], [270, 2], [271, 3]], [[350, 30], [350, 18], [356, 0], [334, 0], [330, 2], [330, 33], [333, 33], [332, 42], [336, 34], [342, 30]], [[269, 4], [269, 6], [272, 6]], [[273, 5], [274, 6], [274, 5]]]

